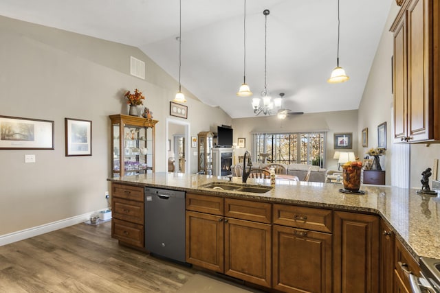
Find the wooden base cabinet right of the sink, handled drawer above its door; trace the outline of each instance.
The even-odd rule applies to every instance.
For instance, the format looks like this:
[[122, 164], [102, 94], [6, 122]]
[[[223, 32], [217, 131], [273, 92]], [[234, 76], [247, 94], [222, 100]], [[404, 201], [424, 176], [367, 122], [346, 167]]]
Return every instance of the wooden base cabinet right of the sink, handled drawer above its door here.
[[332, 211], [286, 204], [273, 209], [273, 288], [332, 292]]

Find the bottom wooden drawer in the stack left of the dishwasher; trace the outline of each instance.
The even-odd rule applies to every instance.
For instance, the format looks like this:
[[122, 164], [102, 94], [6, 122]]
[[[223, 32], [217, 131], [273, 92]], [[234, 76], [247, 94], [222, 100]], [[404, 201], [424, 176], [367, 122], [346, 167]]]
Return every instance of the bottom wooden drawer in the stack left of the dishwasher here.
[[126, 244], [144, 247], [144, 226], [130, 222], [111, 219], [111, 237]]

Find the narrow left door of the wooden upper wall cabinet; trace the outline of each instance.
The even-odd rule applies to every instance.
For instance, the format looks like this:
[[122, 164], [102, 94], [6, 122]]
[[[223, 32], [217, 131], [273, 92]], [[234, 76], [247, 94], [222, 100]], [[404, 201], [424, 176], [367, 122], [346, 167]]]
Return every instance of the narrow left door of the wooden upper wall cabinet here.
[[394, 32], [394, 142], [405, 141], [407, 126], [406, 14]]

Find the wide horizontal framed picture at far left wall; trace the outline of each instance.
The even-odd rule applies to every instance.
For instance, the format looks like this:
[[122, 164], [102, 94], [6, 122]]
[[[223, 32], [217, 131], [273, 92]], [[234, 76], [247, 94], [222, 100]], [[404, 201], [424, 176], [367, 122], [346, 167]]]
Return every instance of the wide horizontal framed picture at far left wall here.
[[0, 116], [0, 150], [54, 150], [54, 121]]

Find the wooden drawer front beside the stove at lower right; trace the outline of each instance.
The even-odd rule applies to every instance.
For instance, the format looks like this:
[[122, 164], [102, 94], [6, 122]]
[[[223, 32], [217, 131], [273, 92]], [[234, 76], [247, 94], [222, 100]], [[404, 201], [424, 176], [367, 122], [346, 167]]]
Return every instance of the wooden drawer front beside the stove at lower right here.
[[395, 272], [409, 291], [411, 285], [408, 280], [408, 272], [420, 277], [419, 264], [398, 239], [395, 243]]

